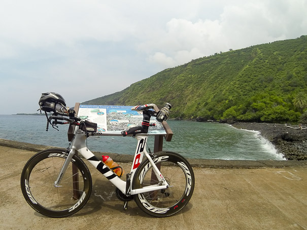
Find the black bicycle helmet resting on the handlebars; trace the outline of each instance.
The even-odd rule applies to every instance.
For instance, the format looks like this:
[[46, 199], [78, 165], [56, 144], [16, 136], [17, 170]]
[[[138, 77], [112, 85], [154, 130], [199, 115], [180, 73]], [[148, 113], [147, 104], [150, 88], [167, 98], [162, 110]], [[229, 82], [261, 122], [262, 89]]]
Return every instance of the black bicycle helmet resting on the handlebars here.
[[66, 103], [64, 98], [58, 93], [48, 92], [42, 93], [39, 105], [40, 109], [46, 112], [62, 112], [59, 108], [65, 107]]

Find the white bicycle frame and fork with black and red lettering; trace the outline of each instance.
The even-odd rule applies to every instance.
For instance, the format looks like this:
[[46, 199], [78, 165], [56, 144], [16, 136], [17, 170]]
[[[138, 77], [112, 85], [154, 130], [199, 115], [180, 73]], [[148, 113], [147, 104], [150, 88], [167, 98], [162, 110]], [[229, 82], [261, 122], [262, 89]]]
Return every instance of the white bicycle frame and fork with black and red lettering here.
[[[95, 133], [92, 134], [93, 136], [106, 136], [108, 134], [104, 133]], [[110, 135], [110, 134], [109, 134]], [[88, 160], [101, 174], [103, 174], [107, 179], [111, 181], [123, 194], [125, 195], [135, 195], [140, 193], [146, 193], [148, 191], [154, 191], [159, 189], [165, 189], [169, 185], [164, 179], [163, 175], [155, 165], [155, 159], [152, 160], [151, 156], [148, 154], [146, 150], [147, 146], [147, 134], [137, 134], [135, 138], [138, 140], [137, 149], [135, 150], [134, 159], [132, 162], [131, 170], [130, 170], [130, 184], [127, 186], [127, 182], [119, 178], [112, 170], [110, 170], [105, 164], [97, 159], [97, 157], [87, 148], [86, 146], [86, 134], [82, 130], [78, 129], [74, 135], [74, 139], [72, 140], [71, 150], [63, 164], [63, 167], [59, 173], [57, 180], [54, 182], [54, 186], [58, 187], [61, 186], [61, 178], [65, 173], [70, 161], [72, 160], [73, 156], [78, 152], [81, 154], [86, 160]], [[131, 189], [132, 188], [132, 181], [135, 175], [135, 171], [137, 171], [138, 167], [142, 163], [143, 156], [147, 157], [151, 166], [153, 167], [153, 171], [159, 180], [160, 185], [149, 185], [143, 188], [138, 189]], [[128, 181], [128, 180], [127, 180]]]

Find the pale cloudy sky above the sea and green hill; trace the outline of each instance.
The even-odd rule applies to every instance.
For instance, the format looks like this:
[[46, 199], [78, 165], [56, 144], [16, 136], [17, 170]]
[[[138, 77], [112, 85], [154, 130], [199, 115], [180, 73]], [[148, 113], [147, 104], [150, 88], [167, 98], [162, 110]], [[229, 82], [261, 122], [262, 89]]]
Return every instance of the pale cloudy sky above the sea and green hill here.
[[0, 114], [35, 113], [45, 92], [73, 107], [192, 59], [296, 39], [306, 12], [306, 0], [0, 0]]

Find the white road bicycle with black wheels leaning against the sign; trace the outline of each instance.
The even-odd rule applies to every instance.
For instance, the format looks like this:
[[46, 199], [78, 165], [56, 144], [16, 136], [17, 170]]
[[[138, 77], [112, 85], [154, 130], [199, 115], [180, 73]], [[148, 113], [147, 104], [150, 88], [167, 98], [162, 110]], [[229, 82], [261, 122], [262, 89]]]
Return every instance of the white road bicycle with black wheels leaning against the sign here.
[[80, 154], [115, 185], [116, 195], [124, 202], [124, 209], [127, 209], [128, 201], [134, 200], [142, 211], [154, 217], [166, 217], [182, 210], [193, 194], [193, 169], [176, 152], [147, 151], [150, 117], [159, 115], [153, 110], [154, 106], [134, 106], [132, 109], [143, 112], [142, 126], [121, 132], [122, 136], [132, 136], [138, 141], [126, 180], [117, 176], [88, 149], [88, 137], [104, 135], [96, 132], [95, 124], [82, 121], [74, 110], [68, 110], [67, 114], [57, 109], [49, 117], [46, 113], [47, 130], [48, 124], [54, 128], [70, 124], [75, 126], [74, 136], [66, 149], [42, 150], [27, 161], [20, 179], [27, 203], [49, 217], [65, 217], [81, 210], [90, 198], [92, 179], [88, 167], [78, 156]]

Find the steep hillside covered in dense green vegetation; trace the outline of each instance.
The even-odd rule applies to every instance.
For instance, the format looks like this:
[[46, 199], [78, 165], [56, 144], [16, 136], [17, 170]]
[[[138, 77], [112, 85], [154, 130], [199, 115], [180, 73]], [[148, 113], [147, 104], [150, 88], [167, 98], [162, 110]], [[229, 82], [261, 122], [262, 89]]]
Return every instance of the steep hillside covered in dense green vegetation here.
[[216, 53], [83, 104], [173, 105], [172, 117], [299, 122], [306, 109], [307, 36]]

